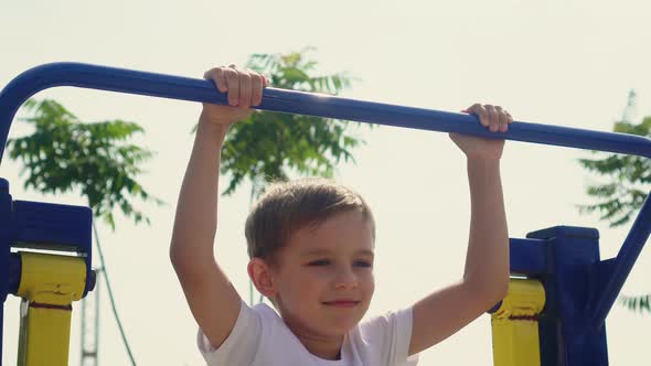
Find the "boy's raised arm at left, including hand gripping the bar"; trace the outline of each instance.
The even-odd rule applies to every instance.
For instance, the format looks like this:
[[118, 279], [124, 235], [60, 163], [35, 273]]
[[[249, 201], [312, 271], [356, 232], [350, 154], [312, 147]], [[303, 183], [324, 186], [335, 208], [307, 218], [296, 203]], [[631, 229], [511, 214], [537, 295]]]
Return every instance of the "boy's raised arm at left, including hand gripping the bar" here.
[[204, 76], [221, 92], [228, 92], [233, 107], [203, 106], [179, 195], [170, 259], [194, 319], [218, 347], [233, 330], [242, 302], [214, 257], [220, 155], [230, 126], [247, 118], [249, 106], [262, 101], [266, 80], [233, 65], [213, 68]]

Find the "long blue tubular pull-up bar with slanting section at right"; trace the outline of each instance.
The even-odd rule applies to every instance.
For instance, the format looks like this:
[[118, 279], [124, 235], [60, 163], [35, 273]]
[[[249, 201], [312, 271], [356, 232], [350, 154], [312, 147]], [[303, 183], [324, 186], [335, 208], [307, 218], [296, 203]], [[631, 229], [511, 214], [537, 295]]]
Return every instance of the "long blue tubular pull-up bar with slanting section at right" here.
[[[55, 86], [76, 86], [172, 99], [226, 104], [225, 94], [217, 93], [215, 86], [204, 79], [78, 63], [45, 64], [17, 76], [0, 93], [0, 159], [18, 108], [35, 93]], [[295, 90], [266, 88], [258, 109], [651, 158], [651, 140], [639, 136], [519, 121], [511, 125], [509, 132], [489, 132], [477, 121], [476, 117], [466, 114], [321, 96]], [[650, 217], [650, 212], [651, 208], [645, 204], [637, 223], [649, 222], [643, 218]], [[595, 310], [596, 314], [608, 313], [612, 305], [608, 299], [613, 299], [623, 286], [626, 274], [630, 272], [648, 237], [648, 225], [633, 225], [616, 259], [615, 273], [618, 274], [609, 280], [606, 290], [597, 300], [600, 305]]]

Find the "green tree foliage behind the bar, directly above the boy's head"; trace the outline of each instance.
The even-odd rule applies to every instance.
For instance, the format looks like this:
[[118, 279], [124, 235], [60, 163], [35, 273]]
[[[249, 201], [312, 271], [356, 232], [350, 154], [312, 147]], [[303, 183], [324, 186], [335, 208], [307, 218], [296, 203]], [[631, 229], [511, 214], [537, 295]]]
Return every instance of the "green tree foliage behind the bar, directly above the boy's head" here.
[[[270, 77], [278, 88], [338, 95], [351, 85], [345, 73], [313, 75], [317, 62], [310, 49], [288, 54], [254, 54], [247, 67]], [[346, 133], [350, 122], [300, 115], [260, 111], [234, 125], [222, 150], [223, 192], [232, 194], [246, 179], [253, 194], [268, 181], [288, 180], [290, 172], [332, 176], [341, 161], [353, 161], [351, 150], [364, 141]]]

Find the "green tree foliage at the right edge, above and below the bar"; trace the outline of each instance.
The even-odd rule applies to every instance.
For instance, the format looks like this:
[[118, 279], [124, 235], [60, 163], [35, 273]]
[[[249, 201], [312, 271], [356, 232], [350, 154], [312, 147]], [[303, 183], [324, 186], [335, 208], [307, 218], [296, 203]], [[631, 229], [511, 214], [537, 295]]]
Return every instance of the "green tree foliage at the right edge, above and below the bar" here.
[[[634, 98], [633, 93], [629, 96], [629, 99], [631, 98]], [[632, 101], [629, 100], [629, 107], [631, 105]], [[651, 116], [638, 125], [628, 120], [617, 121], [613, 131], [649, 137], [650, 128]], [[593, 205], [579, 205], [578, 208], [581, 213], [599, 212], [600, 219], [608, 220], [610, 227], [620, 226], [628, 223], [644, 203], [650, 191], [651, 162], [640, 157], [600, 154], [605, 158], [580, 159], [579, 163], [589, 172], [606, 176], [608, 182], [589, 185], [588, 195], [598, 198], [598, 202]]]

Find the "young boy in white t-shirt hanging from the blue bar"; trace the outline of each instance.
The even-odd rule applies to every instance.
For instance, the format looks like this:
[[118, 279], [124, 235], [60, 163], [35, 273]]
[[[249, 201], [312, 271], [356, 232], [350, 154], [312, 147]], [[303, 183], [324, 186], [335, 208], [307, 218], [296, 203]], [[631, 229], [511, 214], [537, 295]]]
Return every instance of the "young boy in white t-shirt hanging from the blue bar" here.
[[[264, 76], [204, 75], [230, 106], [204, 104], [179, 197], [170, 257], [199, 323], [209, 365], [415, 365], [417, 354], [498, 303], [509, 281], [500, 179], [503, 140], [451, 133], [468, 159], [471, 222], [463, 278], [410, 308], [360, 323], [373, 297], [374, 219], [355, 192], [321, 179], [275, 184], [246, 222], [256, 289], [276, 308], [249, 308], [214, 260], [220, 152], [228, 127], [262, 101]], [[463, 110], [506, 131], [500, 107]]]

